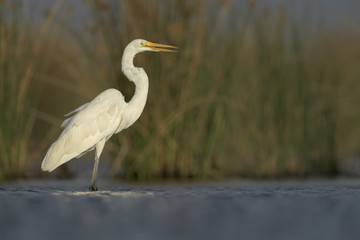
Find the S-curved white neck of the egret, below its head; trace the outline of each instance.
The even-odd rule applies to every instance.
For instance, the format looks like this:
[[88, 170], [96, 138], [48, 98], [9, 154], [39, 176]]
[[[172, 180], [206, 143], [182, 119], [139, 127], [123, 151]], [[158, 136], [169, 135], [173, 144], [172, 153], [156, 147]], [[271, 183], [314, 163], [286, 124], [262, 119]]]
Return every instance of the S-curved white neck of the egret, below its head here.
[[141, 115], [144, 110], [147, 94], [149, 90], [149, 79], [144, 69], [134, 66], [133, 60], [136, 51], [132, 48], [126, 47], [122, 57], [122, 72], [124, 75], [135, 84], [135, 93], [131, 100], [128, 102], [128, 123], [127, 127], [132, 125]]

